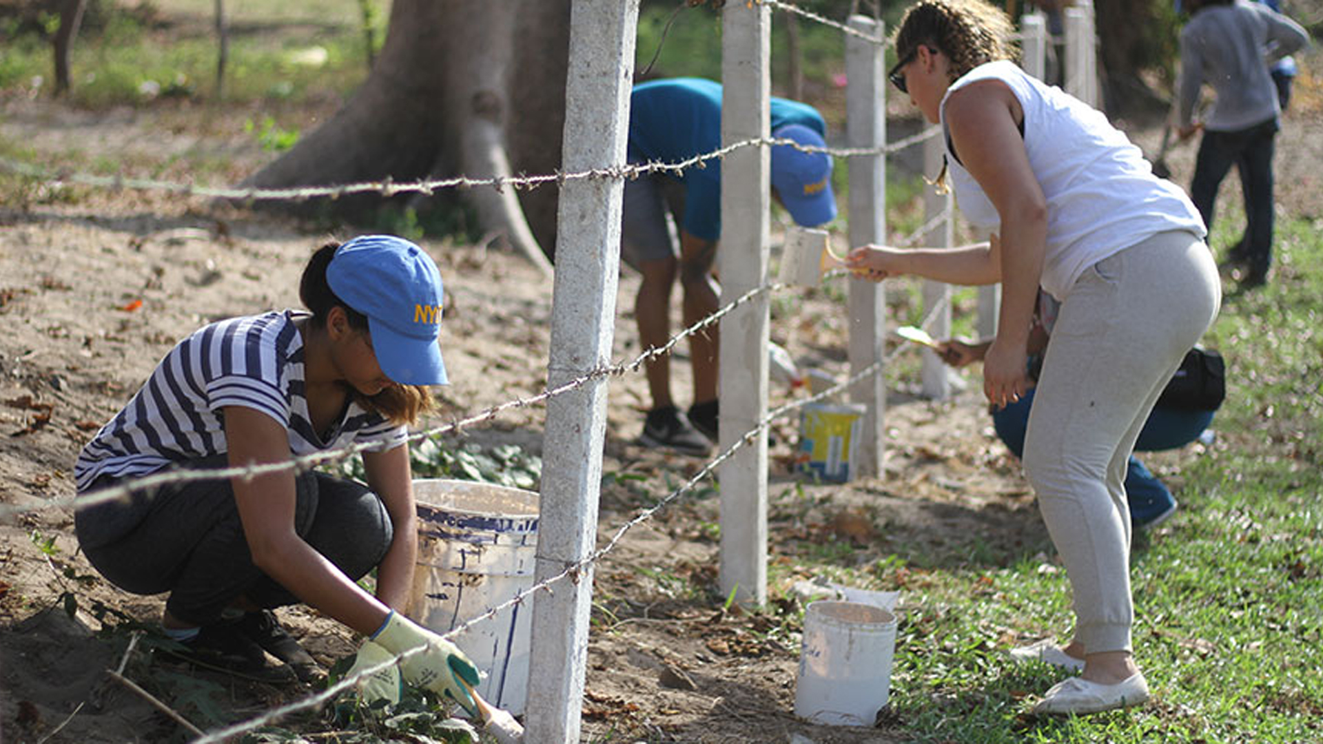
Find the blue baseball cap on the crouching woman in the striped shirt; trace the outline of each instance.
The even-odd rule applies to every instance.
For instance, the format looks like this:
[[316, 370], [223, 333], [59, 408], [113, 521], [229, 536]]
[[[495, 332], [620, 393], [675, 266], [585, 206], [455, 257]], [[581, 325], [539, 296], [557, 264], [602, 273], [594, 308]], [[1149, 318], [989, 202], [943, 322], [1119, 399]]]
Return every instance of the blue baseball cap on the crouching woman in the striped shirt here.
[[445, 385], [441, 360], [441, 271], [417, 245], [394, 236], [360, 236], [327, 266], [331, 291], [368, 316], [372, 348], [402, 385]]

